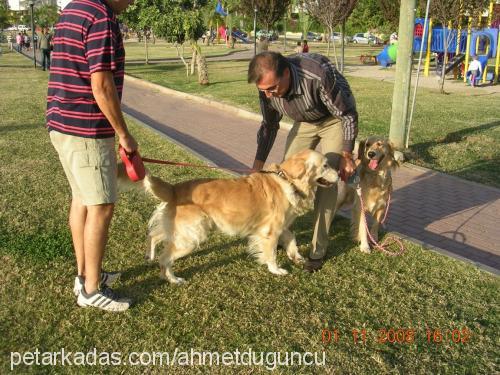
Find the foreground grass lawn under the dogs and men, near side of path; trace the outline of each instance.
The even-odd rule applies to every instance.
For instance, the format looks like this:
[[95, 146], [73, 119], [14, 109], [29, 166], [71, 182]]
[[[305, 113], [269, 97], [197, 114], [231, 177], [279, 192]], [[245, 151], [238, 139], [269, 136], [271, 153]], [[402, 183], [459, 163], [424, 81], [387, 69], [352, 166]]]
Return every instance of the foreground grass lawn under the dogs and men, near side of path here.
[[[498, 371], [500, 283], [454, 259], [406, 243], [407, 253], [365, 255], [349, 240], [348, 222], [336, 219], [329, 259], [309, 275], [279, 251], [291, 274], [276, 277], [245, 252], [242, 240], [213, 235], [179, 260], [175, 287], [146, 264], [146, 222], [155, 202], [123, 194], [112, 222], [104, 267], [123, 271], [118, 291], [135, 299], [125, 313], [76, 307], [74, 260], [66, 227], [69, 189], [44, 129], [47, 74], [14, 54], [0, 58], [0, 356], [11, 351], [325, 352], [324, 367], [279, 367], [278, 373], [474, 373]], [[30, 109], [23, 110], [26, 93]], [[197, 162], [157, 134], [130, 123], [141, 149], [171, 160]], [[152, 167], [171, 182], [224, 176], [193, 169]], [[311, 216], [294, 226], [298, 242], [311, 238]], [[426, 328], [467, 327], [465, 343], [427, 342]], [[340, 333], [324, 344], [323, 329]], [[379, 329], [416, 330], [413, 343], [378, 343]], [[352, 330], [366, 329], [366, 344]], [[438, 337], [438, 335], [437, 335]], [[360, 340], [361, 341], [361, 340]], [[19, 366], [17, 373], [267, 373], [263, 367]]]

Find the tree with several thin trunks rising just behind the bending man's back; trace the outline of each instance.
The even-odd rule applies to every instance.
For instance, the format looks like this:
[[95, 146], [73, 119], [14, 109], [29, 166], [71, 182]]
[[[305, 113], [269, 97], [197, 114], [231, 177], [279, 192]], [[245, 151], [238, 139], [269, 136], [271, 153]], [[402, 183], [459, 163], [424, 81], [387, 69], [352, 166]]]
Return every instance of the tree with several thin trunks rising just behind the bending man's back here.
[[[327, 54], [330, 54], [330, 36], [333, 34], [335, 26], [345, 22], [351, 15], [357, 0], [305, 0], [304, 6], [307, 11], [316, 17], [321, 24], [328, 30], [327, 36]], [[342, 35], [342, 44], [344, 35]], [[335, 63], [338, 66], [335, 42], [333, 43]], [[344, 49], [342, 48], [342, 67], [344, 66]]]

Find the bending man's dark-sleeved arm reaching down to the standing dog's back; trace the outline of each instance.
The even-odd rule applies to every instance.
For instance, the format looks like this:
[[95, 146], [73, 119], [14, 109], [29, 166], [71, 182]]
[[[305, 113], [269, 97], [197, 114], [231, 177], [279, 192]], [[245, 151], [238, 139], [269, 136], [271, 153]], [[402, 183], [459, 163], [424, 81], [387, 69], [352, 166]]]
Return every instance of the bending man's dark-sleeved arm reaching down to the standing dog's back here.
[[276, 134], [279, 129], [279, 122], [283, 117], [278, 111], [271, 107], [263, 92], [259, 92], [260, 110], [262, 112], [262, 124], [257, 133], [257, 153], [253, 163], [253, 169], [260, 171], [269, 156], [273, 147]]

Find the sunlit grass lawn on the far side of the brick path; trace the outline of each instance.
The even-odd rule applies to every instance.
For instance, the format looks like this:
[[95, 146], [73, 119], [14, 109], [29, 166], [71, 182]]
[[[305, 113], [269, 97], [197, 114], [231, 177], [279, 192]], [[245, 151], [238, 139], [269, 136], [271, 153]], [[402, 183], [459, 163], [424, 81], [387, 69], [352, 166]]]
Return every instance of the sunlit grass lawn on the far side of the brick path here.
[[[259, 112], [256, 89], [246, 83], [247, 69], [244, 61], [211, 62], [211, 84], [201, 87], [196, 76], [186, 78], [178, 64], [127, 66], [127, 72], [135, 77]], [[360, 137], [388, 136], [393, 83], [354, 76], [348, 79], [358, 106]], [[419, 89], [410, 137], [411, 162], [500, 187], [498, 100], [498, 94], [482, 94], [479, 89], [473, 95], [442, 95], [437, 89]]]

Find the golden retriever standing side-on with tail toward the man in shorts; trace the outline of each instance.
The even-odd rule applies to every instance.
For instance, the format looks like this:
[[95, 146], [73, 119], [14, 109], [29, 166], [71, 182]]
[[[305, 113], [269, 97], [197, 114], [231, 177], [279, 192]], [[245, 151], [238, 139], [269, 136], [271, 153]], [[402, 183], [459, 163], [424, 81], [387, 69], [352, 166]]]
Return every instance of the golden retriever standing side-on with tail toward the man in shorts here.
[[[119, 183], [126, 178], [120, 168]], [[276, 263], [278, 241], [295, 263], [303, 261], [294, 234], [288, 229], [296, 217], [312, 208], [317, 186], [337, 183], [338, 174], [316, 151], [304, 150], [266, 171], [235, 179], [198, 179], [169, 184], [147, 173], [135, 185], [162, 201], [149, 221], [149, 258], [163, 243], [161, 276], [171, 283], [176, 259], [191, 253], [215, 228], [248, 238], [248, 251], [269, 271], [285, 275]], [[128, 181], [128, 184], [131, 182]]]

